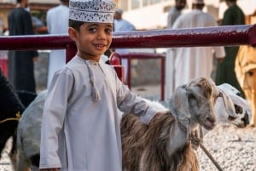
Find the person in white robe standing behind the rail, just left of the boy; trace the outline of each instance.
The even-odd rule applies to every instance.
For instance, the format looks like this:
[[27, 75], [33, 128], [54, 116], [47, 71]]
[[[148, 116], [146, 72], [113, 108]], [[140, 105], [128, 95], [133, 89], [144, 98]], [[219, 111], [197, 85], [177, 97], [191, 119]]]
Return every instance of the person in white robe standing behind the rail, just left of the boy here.
[[[61, 0], [61, 3], [49, 9], [46, 14], [46, 22], [49, 34], [67, 34], [68, 30], [68, 9], [69, 0]], [[49, 54], [48, 66], [48, 82], [47, 86], [54, 76], [55, 71], [61, 69], [66, 65], [66, 49], [52, 50]]]

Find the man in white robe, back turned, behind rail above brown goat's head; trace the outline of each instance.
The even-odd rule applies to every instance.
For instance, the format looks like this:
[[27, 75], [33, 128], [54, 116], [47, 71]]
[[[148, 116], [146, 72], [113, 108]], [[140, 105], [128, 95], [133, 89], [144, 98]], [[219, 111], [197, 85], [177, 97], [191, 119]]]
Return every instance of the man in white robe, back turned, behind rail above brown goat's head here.
[[[182, 14], [172, 26], [173, 29], [218, 26], [211, 14], [202, 11], [203, 0], [192, 1], [192, 11]], [[175, 88], [195, 77], [211, 77], [213, 56], [224, 58], [224, 47], [175, 48]], [[215, 54], [213, 54], [213, 52]]]

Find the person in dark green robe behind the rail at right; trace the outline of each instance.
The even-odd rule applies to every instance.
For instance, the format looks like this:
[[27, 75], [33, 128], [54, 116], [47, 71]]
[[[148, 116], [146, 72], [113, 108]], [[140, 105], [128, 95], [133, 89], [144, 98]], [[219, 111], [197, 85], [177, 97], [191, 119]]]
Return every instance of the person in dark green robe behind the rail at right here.
[[[228, 9], [224, 12], [224, 18], [221, 25], [245, 25], [245, 14], [237, 6], [236, 0], [225, 0], [225, 2], [228, 6]], [[235, 73], [236, 54], [238, 52], [239, 46], [230, 46], [224, 48], [226, 56], [223, 61], [218, 62], [215, 82], [217, 85], [222, 83], [230, 83], [239, 91], [243, 92], [241, 90], [240, 84], [237, 81]]]

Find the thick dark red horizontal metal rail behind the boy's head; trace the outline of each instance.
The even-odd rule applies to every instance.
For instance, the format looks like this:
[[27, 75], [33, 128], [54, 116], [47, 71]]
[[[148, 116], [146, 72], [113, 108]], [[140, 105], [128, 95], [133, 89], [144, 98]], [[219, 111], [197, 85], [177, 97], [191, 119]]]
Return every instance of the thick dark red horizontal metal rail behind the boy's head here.
[[[216, 26], [178, 30], [114, 32], [111, 48], [172, 48], [256, 46], [256, 25]], [[76, 46], [67, 35], [0, 37], [0, 50], [67, 49], [67, 61]]]

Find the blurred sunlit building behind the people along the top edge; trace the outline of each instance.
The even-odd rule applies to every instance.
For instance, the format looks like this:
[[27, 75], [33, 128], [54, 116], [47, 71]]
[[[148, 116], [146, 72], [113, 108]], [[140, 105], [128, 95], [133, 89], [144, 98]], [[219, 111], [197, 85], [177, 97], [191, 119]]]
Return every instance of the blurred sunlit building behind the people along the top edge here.
[[[168, 11], [174, 6], [175, 0], [113, 0], [119, 9], [123, 9], [123, 18], [131, 21], [138, 30], [164, 29]], [[33, 16], [45, 23], [45, 14], [49, 8], [60, 3], [59, 0], [30, 0], [30, 9]], [[188, 12], [191, 0], [187, 0], [187, 7], [183, 13]], [[224, 0], [205, 0], [204, 11], [212, 14], [216, 20], [221, 20], [224, 10], [227, 8]], [[256, 23], [254, 13], [255, 0], [238, 0], [238, 5], [247, 15], [247, 24]], [[15, 0], [0, 0], [0, 20], [3, 27], [7, 25], [7, 15], [10, 9], [15, 8]], [[253, 15], [253, 16], [252, 16]]]

